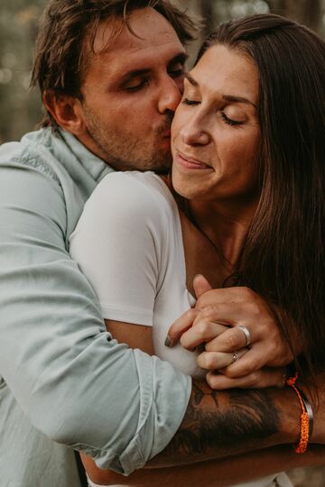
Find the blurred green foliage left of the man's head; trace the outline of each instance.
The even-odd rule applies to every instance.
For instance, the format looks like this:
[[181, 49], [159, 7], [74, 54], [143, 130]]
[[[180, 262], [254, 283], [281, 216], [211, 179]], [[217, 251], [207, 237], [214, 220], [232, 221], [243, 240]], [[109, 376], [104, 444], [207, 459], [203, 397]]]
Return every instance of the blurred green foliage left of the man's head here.
[[33, 41], [46, 3], [46, 0], [1, 0], [0, 142], [30, 131], [41, 117], [39, 95], [31, 93], [29, 84]]

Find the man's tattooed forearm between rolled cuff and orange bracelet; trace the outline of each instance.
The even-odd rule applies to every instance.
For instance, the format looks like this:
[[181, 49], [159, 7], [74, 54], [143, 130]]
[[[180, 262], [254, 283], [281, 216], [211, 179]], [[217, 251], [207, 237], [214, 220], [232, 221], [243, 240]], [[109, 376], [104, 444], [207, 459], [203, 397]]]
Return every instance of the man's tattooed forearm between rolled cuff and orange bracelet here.
[[[323, 425], [320, 428], [323, 430]], [[194, 381], [171, 443], [148, 466], [202, 462], [298, 441], [300, 407], [290, 389], [211, 391]]]

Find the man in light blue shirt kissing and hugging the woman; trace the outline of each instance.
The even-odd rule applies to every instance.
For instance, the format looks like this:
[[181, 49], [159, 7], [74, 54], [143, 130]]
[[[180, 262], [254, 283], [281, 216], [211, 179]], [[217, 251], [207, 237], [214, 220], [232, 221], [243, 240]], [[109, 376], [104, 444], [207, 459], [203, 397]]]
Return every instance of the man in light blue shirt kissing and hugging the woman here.
[[[130, 36], [135, 11], [141, 29]], [[99, 180], [111, 170], [168, 168], [191, 27], [163, 0], [51, 0], [47, 8], [33, 82], [53, 129], [0, 152], [5, 486], [77, 487], [72, 449], [131, 473], [168, 444], [153, 466], [298, 439], [292, 391], [217, 395], [117, 345], [70, 259], [69, 236]]]

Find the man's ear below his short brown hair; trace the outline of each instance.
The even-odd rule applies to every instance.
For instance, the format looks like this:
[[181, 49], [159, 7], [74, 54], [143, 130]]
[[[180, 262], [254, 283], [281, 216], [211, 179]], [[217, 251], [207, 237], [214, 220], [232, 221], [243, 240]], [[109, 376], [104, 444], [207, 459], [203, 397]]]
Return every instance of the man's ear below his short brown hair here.
[[85, 133], [87, 127], [84, 122], [83, 110], [79, 98], [58, 95], [49, 90], [43, 93], [42, 99], [44, 106], [60, 127], [73, 133], [76, 137], [80, 137]]

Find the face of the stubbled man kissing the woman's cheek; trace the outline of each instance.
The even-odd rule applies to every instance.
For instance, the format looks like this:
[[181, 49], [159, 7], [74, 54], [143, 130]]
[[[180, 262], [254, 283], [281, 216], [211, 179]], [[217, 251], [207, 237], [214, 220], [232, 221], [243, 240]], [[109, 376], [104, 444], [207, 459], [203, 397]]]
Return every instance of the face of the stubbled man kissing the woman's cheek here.
[[161, 14], [136, 10], [108, 49], [114, 23], [102, 23], [81, 93], [90, 151], [116, 170], [169, 169], [171, 122], [181, 99], [185, 51]]

